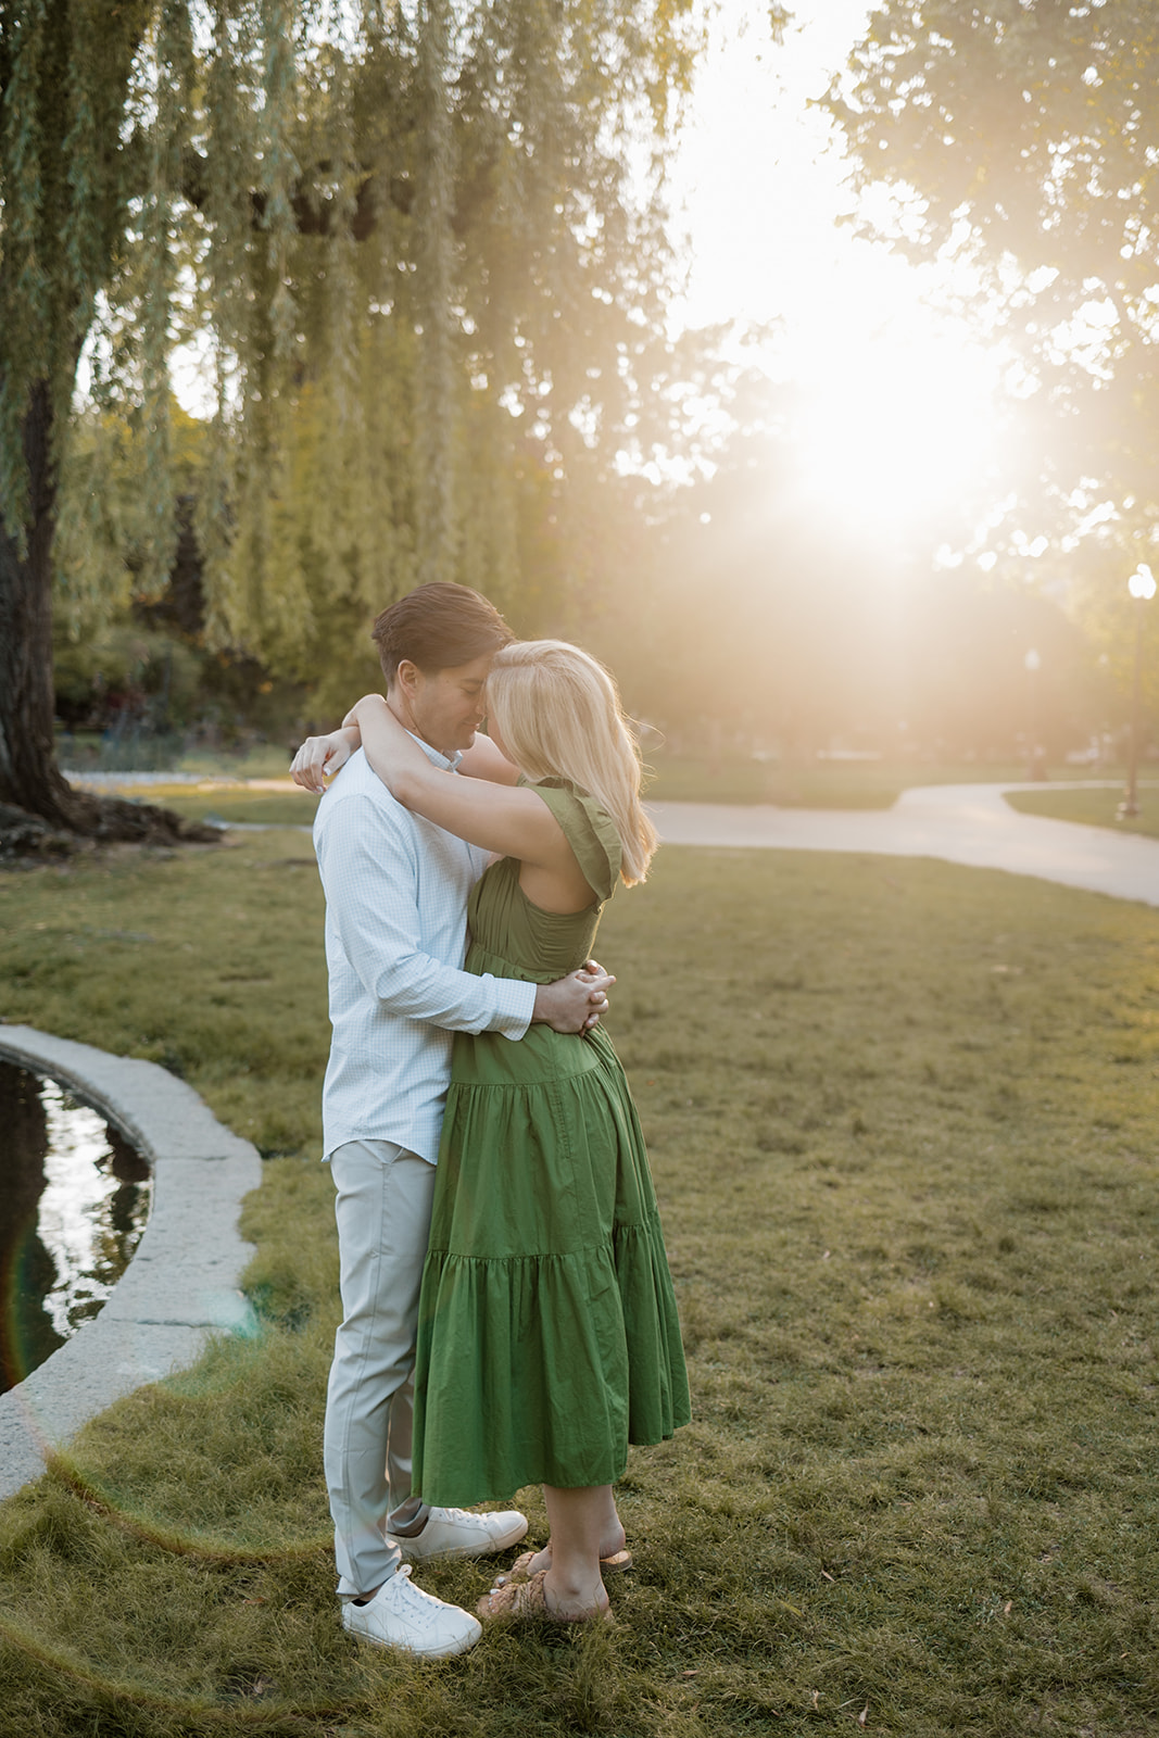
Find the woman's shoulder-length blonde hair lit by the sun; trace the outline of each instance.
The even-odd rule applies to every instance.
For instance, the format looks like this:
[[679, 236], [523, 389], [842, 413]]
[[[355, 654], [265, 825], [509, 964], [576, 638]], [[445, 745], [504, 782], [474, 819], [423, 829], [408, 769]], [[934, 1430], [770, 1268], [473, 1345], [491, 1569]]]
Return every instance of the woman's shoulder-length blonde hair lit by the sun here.
[[528, 779], [568, 779], [594, 796], [620, 836], [620, 878], [643, 881], [657, 833], [639, 801], [639, 747], [612, 674], [563, 640], [500, 647], [487, 709]]

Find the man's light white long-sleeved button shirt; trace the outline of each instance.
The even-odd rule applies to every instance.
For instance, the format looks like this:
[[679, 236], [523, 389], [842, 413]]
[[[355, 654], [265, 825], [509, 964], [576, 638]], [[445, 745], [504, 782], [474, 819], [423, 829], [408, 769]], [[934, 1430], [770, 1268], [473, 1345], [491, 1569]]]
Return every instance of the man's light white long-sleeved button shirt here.
[[[436, 766], [457, 765], [421, 746]], [[462, 972], [487, 853], [396, 803], [361, 749], [318, 803], [315, 850], [334, 1027], [323, 1158], [348, 1140], [393, 1140], [433, 1164], [452, 1032], [523, 1038], [535, 1005], [533, 984]]]

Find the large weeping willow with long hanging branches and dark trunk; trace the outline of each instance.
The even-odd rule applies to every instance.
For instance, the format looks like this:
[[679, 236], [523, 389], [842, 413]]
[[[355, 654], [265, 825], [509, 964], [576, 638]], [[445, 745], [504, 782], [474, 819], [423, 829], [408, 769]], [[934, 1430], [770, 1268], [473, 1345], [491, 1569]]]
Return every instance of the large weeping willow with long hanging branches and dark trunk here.
[[692, 3], [0, 0], [0, 805], [146, 826], [56, 766], [50, 610], [167, 582], [174, 356], [210, 643], [301, 667], [421, 579], [506, 600], [523, 431], [554, 481], [646, 440]]

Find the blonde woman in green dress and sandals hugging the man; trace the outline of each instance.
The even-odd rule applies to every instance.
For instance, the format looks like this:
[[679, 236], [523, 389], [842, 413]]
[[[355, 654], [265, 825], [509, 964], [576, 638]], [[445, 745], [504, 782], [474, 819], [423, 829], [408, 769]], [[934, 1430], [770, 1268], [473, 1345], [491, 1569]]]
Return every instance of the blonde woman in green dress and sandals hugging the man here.
[[[589, 959], [617, 879], [646, 876], [639, 756], [612, 678], [577, 647], [502, 648], [487, 700], [506, 761], [487, 749], [485, 777], [436, 768], [381, 695], [344, 730], [400, 803], [495, 853], [471, 897], [466, 968], [549, 982]], [[455, 1038], [415, 1392], [427, 1502], [544, 1486], [549, 1543], [480, 1615], [605, 1616], [603, 1573], [631, 1564], [612, 1495], [627, 1444], [671, 1436], [690, 1411], [648, 1159], [601, 1027]]]

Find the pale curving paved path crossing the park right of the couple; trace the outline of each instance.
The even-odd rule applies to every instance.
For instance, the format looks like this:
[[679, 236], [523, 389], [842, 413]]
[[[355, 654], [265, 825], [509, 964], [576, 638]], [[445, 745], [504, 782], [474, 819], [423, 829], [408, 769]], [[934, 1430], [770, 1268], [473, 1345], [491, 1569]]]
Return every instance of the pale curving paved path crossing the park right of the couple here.
[[[1098, 787], [1107, 789], [1102, 780]], [[1065, 789], [1083, 786], [1069, 782]], [[886, 810], [725, 803], [648, 803], [648, 810], [666, 845], [940, 857], [971, 869], [1006, 869], [1159, 905], [1159, 839], [1020, 815], [1003, 801], [1003, 791], [1041, 793], [1043, 786], [921, 786], [904, 791]], [[1152, 799], [1159, 801], [1159, 791]]]

